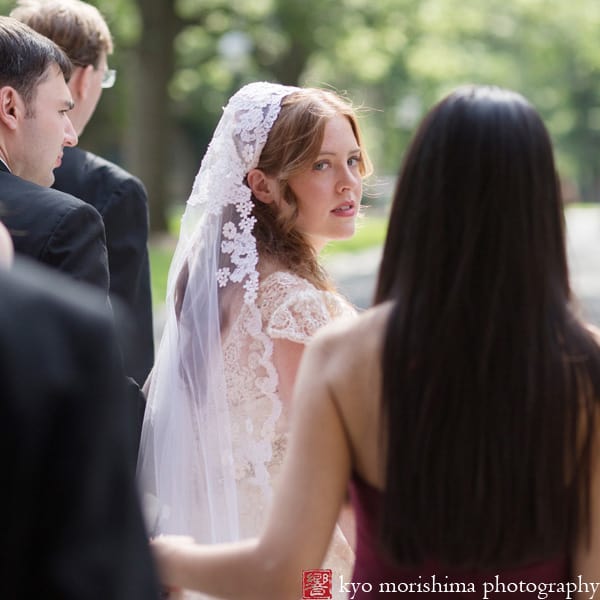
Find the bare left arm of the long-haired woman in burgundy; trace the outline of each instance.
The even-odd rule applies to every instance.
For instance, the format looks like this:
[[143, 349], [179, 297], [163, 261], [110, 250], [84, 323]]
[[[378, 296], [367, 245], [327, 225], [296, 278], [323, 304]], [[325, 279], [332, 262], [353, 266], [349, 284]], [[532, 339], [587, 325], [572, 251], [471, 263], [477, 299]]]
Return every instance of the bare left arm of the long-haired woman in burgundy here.
[[165, 584], [240, 600], [300, 596], [302, 571], [318, 568], [327, 551], [351, 468], [326, 354], [318, 343], [301, 362], [290, 445], [261, 539], [197, 546], [159, 538]]

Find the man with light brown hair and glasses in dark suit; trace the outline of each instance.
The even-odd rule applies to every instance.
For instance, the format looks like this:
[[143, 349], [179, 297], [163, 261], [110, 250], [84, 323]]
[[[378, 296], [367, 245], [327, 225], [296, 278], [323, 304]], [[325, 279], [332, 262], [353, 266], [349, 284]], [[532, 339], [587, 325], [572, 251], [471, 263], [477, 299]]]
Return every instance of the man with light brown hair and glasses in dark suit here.
[[[103, 88], [112, 87], [115, 71], [107, 56], [113, 43], [106, 21], [80, 0], [20, 0], [11, 16], [56, 42], [71, 59], [70, 113], [81, 135]], [[154, 362], [152, 298], [148, 263], [148, 199], [139, 179], [104, 158], [67, 148], [55, 171], [54, 187], [81, 198], [102, 215], [106, 230], [110, 297], [131, 313], [125, 369], [142, 385]]]

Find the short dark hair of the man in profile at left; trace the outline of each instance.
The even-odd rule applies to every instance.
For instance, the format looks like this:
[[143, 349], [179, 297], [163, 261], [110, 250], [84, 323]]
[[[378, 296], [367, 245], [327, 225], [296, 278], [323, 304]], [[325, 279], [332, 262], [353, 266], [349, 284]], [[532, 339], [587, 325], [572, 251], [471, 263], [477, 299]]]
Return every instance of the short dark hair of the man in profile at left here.
[[71, 62], [54, 42], [12, 17], [0, 17], [0, 87], [13, 87], [30, 107], [52, 65], [68, 81]]

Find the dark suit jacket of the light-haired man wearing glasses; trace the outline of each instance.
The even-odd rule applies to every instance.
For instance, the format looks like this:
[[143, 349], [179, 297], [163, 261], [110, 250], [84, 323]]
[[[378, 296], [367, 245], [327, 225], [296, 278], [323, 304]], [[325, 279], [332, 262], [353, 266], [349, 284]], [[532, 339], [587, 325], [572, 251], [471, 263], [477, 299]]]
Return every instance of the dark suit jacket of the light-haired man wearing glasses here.
[[106, 230], [110, 297], [130, 311], [125, 370], [142, 385], [154, 362], [148, 262], [148, 198], [141, 181], [91, 152], [65, 148], [54, 187], [91, 204]]

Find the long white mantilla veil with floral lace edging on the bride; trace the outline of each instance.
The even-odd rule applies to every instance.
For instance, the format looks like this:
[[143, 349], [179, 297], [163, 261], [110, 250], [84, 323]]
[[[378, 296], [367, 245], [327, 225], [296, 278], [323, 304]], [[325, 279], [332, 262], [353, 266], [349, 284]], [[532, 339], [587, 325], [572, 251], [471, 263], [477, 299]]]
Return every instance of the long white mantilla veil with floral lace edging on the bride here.
[[297, 90], [259, 82], [231, 97], [187, 202], [137, 466], [151, 535], [239, 539], [222, 336], [226, 315], [243, 304], [260, 330], [255, 218], [244, 178], [258, 164], [281, 100]]

